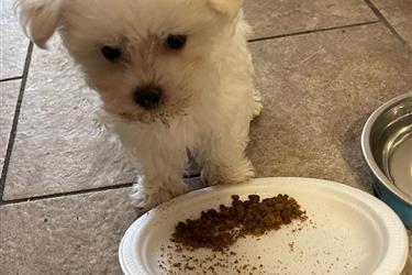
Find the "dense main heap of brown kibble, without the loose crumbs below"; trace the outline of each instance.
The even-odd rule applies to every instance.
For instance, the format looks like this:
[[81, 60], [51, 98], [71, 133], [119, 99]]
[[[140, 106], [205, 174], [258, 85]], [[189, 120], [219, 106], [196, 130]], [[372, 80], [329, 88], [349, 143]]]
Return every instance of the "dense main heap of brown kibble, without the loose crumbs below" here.
[[302, 221], [305, 219], [304, 213], [288, 195], [265, 198], [263, 201], [258, 195], [248, 195], [245, 201], [238, 195], [232, 195], [231, 207], [221, 205], [219, 210], [202, 211], [197, 220], [179, 221], [171, 241], [192, 250], [209, 248], [223, 251], [238, 238], [261, 235], [294, 219]]

